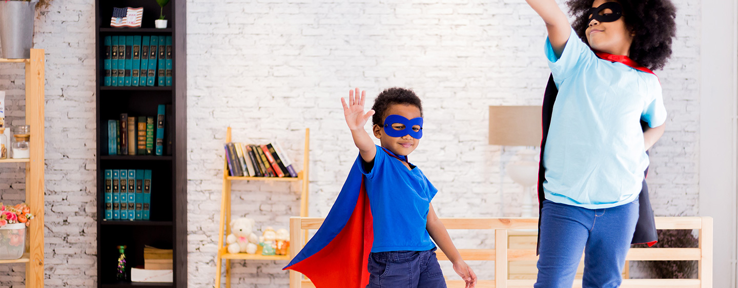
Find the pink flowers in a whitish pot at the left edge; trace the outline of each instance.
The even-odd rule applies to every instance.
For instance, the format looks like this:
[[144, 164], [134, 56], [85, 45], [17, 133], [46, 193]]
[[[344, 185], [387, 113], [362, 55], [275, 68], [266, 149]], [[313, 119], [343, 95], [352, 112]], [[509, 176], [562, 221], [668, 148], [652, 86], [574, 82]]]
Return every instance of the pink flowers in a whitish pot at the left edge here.
[[0, 260], [21, 258], [26, 250], [26, 227], [33, 219], [26, 203], [6, 206], [0, 203]]

